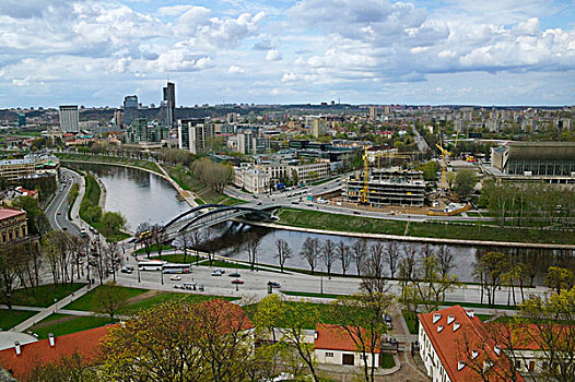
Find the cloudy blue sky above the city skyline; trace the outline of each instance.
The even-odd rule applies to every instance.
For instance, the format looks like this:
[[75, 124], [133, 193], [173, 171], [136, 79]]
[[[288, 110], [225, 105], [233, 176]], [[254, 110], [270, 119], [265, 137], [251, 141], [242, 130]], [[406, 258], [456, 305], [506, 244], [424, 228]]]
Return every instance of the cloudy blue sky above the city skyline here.
[[0, 108], [574, 105], [573, 0], [1, 0]]

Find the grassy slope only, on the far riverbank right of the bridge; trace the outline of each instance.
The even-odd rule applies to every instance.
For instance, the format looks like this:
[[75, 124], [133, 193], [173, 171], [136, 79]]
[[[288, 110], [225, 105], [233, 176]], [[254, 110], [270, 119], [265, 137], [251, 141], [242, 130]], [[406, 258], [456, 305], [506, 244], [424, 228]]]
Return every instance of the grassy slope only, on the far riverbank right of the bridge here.
[[[303, 228], [327, 229], [349, 232], [404, 236], [406, 222], [376, 219], [362, 216], [339, 215], [317, 211], [281, 208], [278, 224]], [[574, 244], [575, 235], [562, 230], [525, 228], [500, 228], [481, 225], [456, 225], [444, 223], [410, 222], [409, 236], [533, 243]]]

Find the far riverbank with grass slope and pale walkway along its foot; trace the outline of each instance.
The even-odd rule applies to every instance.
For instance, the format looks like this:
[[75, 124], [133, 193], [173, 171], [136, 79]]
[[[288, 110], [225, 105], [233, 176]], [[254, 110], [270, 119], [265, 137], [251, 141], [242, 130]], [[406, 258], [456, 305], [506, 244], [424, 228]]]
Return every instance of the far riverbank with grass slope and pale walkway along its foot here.
[[[575, 250], [573, 232], [383, 220], [292, 208], [281, 208], [277, 216], [280, 218], [278, 223], [244, 223], [273, 229], [379, 240]], [[411, 235], [406, 235], [408, 231]], [[537, 231], [539, 235], [529, 235], [530, 231]]]

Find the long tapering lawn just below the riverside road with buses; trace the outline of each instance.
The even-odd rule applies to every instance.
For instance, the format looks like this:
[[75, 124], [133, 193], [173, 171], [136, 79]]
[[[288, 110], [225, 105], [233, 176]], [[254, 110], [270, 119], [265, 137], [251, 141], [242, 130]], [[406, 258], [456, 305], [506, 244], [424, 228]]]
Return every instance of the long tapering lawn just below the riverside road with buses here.
[[[110, 288], [110, 286], [98, 286], [97, 288]], [[95, 288], [95, 289], [97, 289]], [[128, 295], [128, 299], [133, 299], [134, 297], [142, 296], [145, 293], [151, 293], [149, 289], [141, 289], [141, 288], [127, 288], [127, 287], [120, 287], [120, 286], [114, 286], [113, 288], [122, 288], [126, 290]], [[80, 299], [73, 301], [72, 303], [69, 303], [66, 306], [64, 309], [71, 309], [71, 310], [82, 310], [82, 311], [96, 311], [98, 309], [98, 301], [94, 298], [95, 296], [95, 289], [91, 290], [86, 295], [82, 296]], [[154, 305], [181, 298], [186, 300], [187, 302], [201, 302], [206, 300], [211, 300], [214, 298], [221, 298], [224, 300], [233, 301], [237, 298], [234, 297], [222, 297], [222, 296], [213, 296], [213, 295], [190, 295], [190, 294], [178, 294], [178, 293], [171, 293], [171, 291], [156, 291], [151, 293], [149, 296], [145, 296], [141, 299], [136, 299], [132, 302], [128, 302], [126, 307], [119, 310], [118, 314], [133, 314], [138, 312], [139, 310], [150, 308]]]

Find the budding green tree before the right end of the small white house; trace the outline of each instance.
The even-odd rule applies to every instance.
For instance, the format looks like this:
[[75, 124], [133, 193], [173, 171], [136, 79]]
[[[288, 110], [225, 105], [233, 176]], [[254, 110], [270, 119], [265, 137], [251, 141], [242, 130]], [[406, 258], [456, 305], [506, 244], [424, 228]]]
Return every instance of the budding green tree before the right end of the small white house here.
[[[382, 336], [387, 333], [384, 317], [392, 301], [392, 295], [359, 293], [332, 302], [333, 317], [338, 317], [340, 327], [349, 334], [363, 360], [366, 382], [375, 381], [375, 355], [379, 353]], [[373, 360], [371, 366], [368, 356]]]

